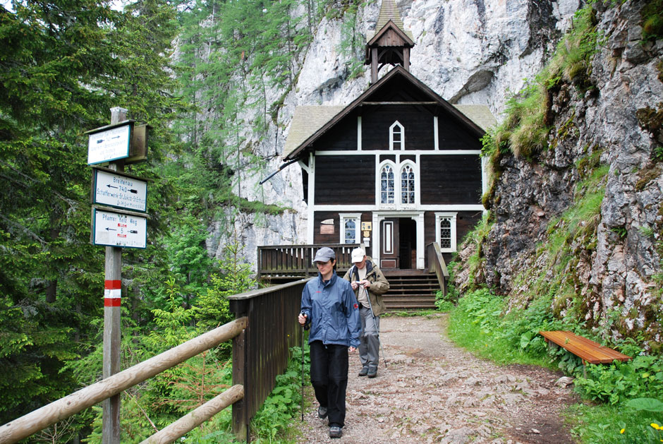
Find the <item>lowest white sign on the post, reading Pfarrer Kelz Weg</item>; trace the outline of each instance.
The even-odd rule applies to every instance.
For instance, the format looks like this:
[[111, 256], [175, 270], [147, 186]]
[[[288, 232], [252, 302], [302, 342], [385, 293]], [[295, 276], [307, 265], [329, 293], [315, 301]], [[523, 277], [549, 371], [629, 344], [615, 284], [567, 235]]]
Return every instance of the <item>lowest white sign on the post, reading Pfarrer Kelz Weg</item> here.
[[92, 233], [95, 245], [128, 248], [147, 247], [147, 217], [93, 208]]

